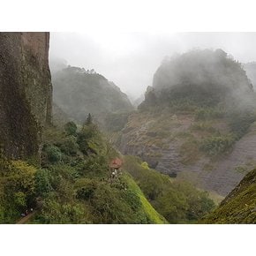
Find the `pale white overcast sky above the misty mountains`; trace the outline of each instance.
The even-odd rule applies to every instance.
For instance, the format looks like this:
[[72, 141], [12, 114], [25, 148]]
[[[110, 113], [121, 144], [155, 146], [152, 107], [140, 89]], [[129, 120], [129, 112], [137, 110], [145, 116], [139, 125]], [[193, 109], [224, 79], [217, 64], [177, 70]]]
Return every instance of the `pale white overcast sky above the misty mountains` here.
[[189, 49], [223, 49], [242, 63], [256, 61], [256, 33], [51, 33], [49, 57], [94, 69], [136, 99], [152, 85], [165, 56]]

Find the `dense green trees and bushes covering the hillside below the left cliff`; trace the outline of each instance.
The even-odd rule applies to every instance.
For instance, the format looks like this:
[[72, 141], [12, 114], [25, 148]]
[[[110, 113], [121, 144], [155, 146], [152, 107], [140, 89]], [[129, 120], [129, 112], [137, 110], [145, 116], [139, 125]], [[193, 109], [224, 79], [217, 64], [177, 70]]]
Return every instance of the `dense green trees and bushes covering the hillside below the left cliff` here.
[[1, 156], [0, 222], [16, 222], [33, 207], [32, 223], [167, 223], [130, 175], [111, 177], [118, 154], [89, 117], [81, 129], [49, 127], [40, 168]]

